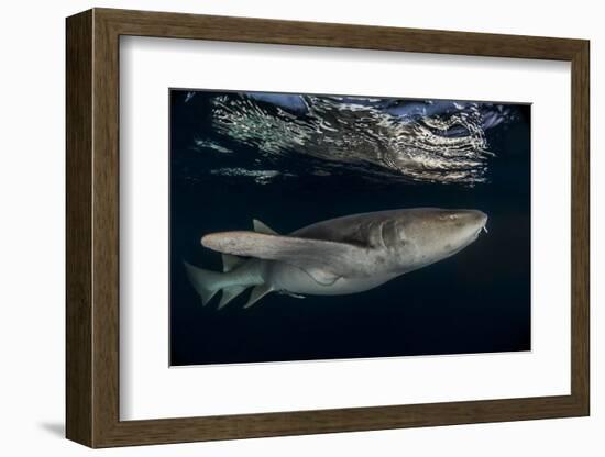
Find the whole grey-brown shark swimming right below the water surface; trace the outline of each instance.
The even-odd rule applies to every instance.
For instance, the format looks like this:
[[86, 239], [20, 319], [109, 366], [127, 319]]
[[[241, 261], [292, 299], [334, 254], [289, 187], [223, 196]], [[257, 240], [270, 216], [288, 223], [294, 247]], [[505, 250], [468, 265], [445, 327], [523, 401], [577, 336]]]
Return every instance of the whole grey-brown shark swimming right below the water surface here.
[[185, 267], [204, 304], [222, 291], [219, 309], [251, 287], [244, 308], [270, 292], [356, 293], [457, 254], [487, 232], [486, 222], [477, 210], [415, 208], [346, 215], [279, 235], [254, 220], [254, 231], [201, 238], [222, 253], [222, 272]]

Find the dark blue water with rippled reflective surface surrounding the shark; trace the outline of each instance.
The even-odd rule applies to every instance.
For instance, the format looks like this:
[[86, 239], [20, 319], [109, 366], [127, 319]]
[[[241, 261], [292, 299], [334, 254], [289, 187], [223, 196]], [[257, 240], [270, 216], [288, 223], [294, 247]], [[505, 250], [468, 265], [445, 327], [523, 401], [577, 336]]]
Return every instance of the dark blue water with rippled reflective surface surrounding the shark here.
[[[207, 233], [279, 233], [353, 213], [479, 209], [461, 253], [351, 296], [272, 293], [218, 311], [182, 260]], [[170, 364], [530, 349], [530, 108], [170, 91]]]

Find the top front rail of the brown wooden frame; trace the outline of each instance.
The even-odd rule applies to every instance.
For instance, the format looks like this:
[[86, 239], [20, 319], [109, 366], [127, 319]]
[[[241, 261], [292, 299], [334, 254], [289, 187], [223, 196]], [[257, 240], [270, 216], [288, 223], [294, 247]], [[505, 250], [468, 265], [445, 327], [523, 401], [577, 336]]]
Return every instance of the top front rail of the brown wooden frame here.
[[121, 35], [571, 60], [580, 40], [96, 9]]

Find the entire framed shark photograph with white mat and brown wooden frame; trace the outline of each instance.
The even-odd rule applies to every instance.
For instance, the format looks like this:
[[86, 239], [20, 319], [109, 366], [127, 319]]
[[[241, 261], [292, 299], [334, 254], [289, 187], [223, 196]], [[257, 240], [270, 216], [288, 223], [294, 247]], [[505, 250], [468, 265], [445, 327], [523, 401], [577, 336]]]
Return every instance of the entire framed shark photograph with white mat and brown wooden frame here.
[[588, 54], [68, 18], [67, 437], [588, 415]]

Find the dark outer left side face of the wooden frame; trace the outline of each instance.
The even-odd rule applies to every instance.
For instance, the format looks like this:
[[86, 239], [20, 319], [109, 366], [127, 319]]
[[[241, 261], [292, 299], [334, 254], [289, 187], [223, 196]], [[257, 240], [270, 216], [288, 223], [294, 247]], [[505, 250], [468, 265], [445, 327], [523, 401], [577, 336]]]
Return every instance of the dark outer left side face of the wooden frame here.
[[66, 426], [92, 445], [92, 13], [67, 21], [66, 49]]

